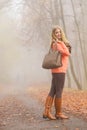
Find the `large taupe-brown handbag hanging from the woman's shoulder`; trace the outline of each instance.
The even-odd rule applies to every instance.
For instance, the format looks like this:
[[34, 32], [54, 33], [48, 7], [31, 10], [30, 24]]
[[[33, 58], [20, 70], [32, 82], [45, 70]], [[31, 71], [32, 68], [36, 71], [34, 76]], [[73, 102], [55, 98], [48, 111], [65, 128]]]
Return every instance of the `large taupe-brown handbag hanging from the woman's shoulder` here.
[[42, 63], [44, 69], [54, 69], [62, 66], [62, 54], [58, 50], [53, 50], [51, 47], [45, 55]]

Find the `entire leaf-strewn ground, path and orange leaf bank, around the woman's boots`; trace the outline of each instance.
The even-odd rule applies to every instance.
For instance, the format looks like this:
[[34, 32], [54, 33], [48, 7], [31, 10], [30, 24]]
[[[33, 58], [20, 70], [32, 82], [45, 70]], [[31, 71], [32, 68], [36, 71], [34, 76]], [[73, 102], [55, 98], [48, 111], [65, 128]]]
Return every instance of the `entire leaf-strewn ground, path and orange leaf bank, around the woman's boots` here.
[[64, 90], [62, 110], [69, 119], [54, 121], [42, 118], [48, 90], [31, 86], [22, 92], [1, 91], [0, 130], [87, 130], [87, 92]]

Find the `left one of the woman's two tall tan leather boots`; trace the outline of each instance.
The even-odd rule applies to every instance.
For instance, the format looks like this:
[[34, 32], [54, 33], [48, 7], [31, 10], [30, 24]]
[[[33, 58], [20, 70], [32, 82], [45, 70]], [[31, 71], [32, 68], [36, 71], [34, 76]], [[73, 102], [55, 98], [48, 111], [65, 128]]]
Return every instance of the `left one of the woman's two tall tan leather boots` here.
[[53, 104], [53, 98], [48, 96], [45, 102], [45, 111], [43, 113], [43, 118], [49, 118], [51, 120], [55, 120], [56, 118], [51, 114], [51, 107]]

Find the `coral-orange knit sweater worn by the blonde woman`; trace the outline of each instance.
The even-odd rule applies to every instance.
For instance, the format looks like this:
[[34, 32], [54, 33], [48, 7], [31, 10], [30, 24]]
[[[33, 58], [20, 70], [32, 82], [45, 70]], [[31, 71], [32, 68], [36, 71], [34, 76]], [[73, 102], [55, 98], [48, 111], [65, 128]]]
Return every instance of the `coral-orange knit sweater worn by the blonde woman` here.
[[53, 43], [52, 48], [55, 49], [57, 45], [58, 51], [62, 53], [62, 67], [51, 69], [52, 73], [66, 73], [67, 66], [68, 66], [68, 58], [70, 56], [70, 53], [68, 51], [68, 48], [64, 44], [64, 42], [59, 42], [57, 44]]

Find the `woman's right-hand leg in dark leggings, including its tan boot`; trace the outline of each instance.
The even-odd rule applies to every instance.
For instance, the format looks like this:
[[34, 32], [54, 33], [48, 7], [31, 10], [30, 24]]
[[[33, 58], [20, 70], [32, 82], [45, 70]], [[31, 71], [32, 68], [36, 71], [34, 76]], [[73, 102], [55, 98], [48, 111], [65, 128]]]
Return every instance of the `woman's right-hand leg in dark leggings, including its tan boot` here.
[[55, 108], [56, 108], [56, 118], [67, 119], [68, 117], [62, 114], [62, 92], [65, 82], [65, 73], [58, 73], [55, 75], [55, 86], [56, 86], [56, 97], [55, 97]]

